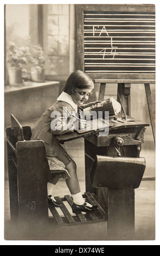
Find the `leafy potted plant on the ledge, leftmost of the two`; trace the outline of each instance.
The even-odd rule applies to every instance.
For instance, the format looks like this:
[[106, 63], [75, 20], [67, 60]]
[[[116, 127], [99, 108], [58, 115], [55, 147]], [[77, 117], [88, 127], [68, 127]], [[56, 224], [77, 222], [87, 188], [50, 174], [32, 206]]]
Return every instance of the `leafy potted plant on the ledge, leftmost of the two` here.
[[22, 82], [22, 67], [28, 63], [28, 56], [28, 47], [16, 47], [14, 42], [9, 42], [7, 46], [7, 64], [10, 85]]

